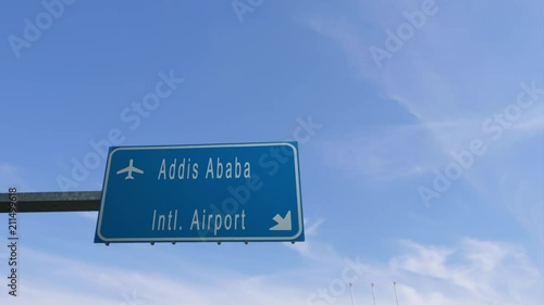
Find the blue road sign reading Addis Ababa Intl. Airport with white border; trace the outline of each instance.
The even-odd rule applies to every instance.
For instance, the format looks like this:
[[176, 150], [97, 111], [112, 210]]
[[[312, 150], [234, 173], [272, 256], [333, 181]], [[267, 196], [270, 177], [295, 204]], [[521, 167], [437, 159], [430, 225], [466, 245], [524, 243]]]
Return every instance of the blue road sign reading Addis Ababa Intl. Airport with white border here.
[[304, 239], [297, 142], [110, 148], [97, 243]]

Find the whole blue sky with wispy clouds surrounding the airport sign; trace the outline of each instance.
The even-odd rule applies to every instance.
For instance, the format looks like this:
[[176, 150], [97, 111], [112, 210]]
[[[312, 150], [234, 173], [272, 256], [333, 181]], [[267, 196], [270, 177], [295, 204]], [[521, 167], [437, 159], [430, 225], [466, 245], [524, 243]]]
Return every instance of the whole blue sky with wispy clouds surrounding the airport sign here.
[[72, 169], [110, 132], [237, 143], [316, 124], [306, 242], [106, 247], [96, 212], [20, 214], [2, 304], [349, 304], [346, 269], [356, 304], [371, 282], [395, 304], [393, 280], [403, 305], [542, 304], [542, 1], [1, 5], [0, 192], [100, 190], [103, 158]]

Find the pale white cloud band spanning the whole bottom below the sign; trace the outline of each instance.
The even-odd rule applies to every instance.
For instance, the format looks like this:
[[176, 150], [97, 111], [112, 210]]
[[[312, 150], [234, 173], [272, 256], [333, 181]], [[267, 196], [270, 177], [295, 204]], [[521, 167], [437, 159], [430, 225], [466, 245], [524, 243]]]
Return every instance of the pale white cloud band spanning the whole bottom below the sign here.
[[[542, 274], [518, 245], [474, 239], [449, 246], [401, 241], [398, 252], [386, 265], [360, 259], [363, 272], [354, 282], [357, 303], [371, 300], [372, 281], [378, 302], [394, 305], [392, 281], [396, 280], [403, 305], [542, 304]], [[25, 253], [26, 259], [40, 264], [27, 272], [21, 296], [10, 304], [307, 304], [310, 295], [320, 289], [326, 291], [342, 278], [346, 267], [345, 259], [339, 259], [333, 265], [317, 262], [296, 270], [277, 266], [272, 274], [244, 275], [239, 270], [210, 270], [202, 262], [194, 262], [201, 272], [188, 276], [165, 260], [154, 264], [173, 266], [168, 274], [107, 267], [100, 262], [32, 250]], [[331, 304], [349, 302], [345, 285]], [[0, 295], [0, 301], [8, 300], [5, 295]], [[126, 300], [136, 301], [131, 304]], [[311, 304], [326, 303], [313, 300]]]

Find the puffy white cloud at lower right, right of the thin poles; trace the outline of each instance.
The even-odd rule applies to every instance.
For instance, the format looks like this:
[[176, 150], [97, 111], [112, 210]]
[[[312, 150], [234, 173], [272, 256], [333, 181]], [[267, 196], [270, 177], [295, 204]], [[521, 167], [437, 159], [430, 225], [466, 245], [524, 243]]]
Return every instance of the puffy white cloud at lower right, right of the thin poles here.
[[446, 298], [459, 304], [491, 300], [500, 304], [539, 303], [536, 288], [542, 285], [542, 275], [519, 246], [473, 239], [462, 240], [456, 249], [405, 244], [408, 254], [392, 259], [392, 266], [419, 276], [413, 288], [421, 288], [423, 293], [438, 290], [446, 296], [446, 291], [457, 291]]

